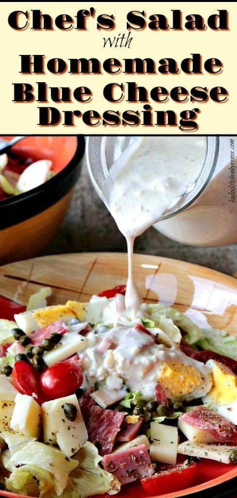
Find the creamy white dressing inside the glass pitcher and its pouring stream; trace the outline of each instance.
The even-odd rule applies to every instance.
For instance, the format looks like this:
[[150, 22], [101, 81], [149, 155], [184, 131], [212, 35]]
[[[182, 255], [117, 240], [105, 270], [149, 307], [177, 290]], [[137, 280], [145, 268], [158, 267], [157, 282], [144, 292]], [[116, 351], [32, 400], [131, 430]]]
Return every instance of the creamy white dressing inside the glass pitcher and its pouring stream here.
[[192, 188], [205, 153], [204, 137], [136, 137], [109, 170], [102, 194], [127, 241], [125, 306], [132, 319], [142, 302], [133, 278], [134, 241]]

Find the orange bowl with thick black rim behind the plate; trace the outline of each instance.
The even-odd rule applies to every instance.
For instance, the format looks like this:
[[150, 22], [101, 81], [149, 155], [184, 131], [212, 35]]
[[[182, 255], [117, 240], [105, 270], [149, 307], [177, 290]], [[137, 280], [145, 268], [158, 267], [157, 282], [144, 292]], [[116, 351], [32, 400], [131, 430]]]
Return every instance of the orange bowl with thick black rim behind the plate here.
[[27, 136], [15, 144], [11, 152], [34, 161], [50, 159], [56, 175], [39, 187], [0, 201], [0, 264], [40, 254], [50, 242], [79, 177], [84, 139], [81, 136]]

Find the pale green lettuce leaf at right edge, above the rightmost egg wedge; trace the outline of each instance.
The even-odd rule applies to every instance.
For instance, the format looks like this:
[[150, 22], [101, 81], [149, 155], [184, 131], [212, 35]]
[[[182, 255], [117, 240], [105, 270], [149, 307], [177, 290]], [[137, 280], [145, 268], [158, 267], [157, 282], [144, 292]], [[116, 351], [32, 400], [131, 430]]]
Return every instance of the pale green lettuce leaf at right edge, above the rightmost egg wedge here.
[[199, 339], [197, 346], [237, 360], [237, 338], [235, 336], [229, 336], [225, 330], [218, 329], [202, 329], [202, 332], [204, 337]]

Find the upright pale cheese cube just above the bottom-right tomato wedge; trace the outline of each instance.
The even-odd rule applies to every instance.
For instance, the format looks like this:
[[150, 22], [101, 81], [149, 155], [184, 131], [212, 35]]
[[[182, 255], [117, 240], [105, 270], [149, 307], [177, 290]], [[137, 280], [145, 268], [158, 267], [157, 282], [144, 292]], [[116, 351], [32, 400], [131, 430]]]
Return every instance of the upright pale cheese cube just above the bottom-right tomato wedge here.
[[151, 440], [151, 460], [175, 465], [178, 446], [177, 427], [151, 422]]

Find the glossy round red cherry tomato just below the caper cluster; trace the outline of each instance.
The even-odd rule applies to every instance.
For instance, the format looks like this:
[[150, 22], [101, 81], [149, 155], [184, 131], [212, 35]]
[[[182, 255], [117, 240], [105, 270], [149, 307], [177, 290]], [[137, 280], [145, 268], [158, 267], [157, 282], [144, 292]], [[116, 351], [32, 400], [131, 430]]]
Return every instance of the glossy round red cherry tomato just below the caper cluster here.
[[69, 359], [45, 370], [41, 375], [40, 385], [46, 396], [56, 399], [73, 394], [82, 381], [83, 375], [79, 362]]

